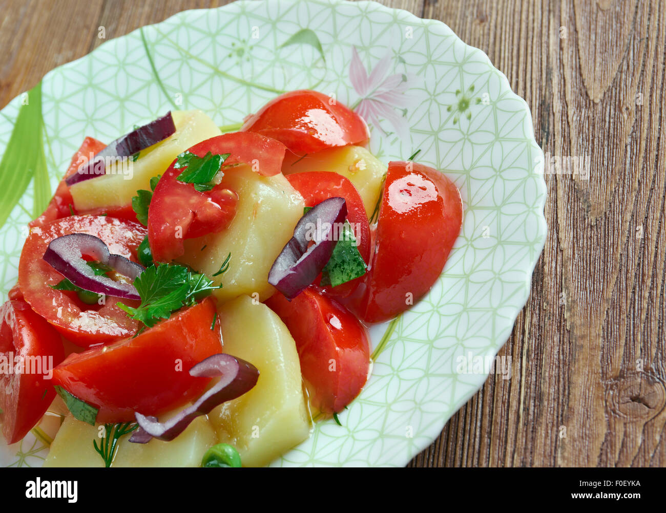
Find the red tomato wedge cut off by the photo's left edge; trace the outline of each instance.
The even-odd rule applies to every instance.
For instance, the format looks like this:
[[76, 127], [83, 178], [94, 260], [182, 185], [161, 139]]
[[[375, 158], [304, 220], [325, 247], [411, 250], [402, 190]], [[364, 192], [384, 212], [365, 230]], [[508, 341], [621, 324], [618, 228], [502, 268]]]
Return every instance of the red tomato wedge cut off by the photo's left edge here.
[[0, 307], [0, 417], [8, 444], [21, 440], [47, 411], [55, 397], [50, 372], [64, 357], [60, 335], [28, 303]]

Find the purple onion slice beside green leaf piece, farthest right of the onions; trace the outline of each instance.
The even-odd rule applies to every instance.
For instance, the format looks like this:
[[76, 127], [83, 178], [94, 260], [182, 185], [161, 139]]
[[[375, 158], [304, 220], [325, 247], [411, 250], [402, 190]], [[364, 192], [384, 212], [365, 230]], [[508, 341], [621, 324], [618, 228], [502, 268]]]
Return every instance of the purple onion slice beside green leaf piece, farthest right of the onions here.
[[[337, 244], [332, 233], [336, 224], [342, 226], [346, 217], [344, 198], [337, 197], [322, 201], [304, 214], [294, 228], [294, 236], [270, 268], [268, 283], [287, 299], [296, 297], [324, 269]], [[314, 241], [314, 245], [308, 248], [310, 241]]]

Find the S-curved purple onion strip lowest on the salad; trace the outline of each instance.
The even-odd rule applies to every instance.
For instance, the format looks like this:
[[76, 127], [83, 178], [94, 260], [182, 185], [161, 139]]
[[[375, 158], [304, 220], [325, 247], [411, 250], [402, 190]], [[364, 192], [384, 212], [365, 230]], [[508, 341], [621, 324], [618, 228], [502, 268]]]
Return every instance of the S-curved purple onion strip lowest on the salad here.
[[139, 429], [132, 434], [129, 439], [130, 442], [145, 444], [151, 438], [158, 438], [166, 442], [173, 440], [196, 417], [208, 415], [214, 407], [240, 397], [252, 389], [259, 379], [259, 371], [254, 365], [240, 358], [222, 353], [209, 356], [194, 365], [190, 369], [190, 375], [196, 377], [219, 376], [220, 381], [199, 397], [192, 406], [180, 411], [178, 415], [163, 423], [155, 417], [135, 413]]

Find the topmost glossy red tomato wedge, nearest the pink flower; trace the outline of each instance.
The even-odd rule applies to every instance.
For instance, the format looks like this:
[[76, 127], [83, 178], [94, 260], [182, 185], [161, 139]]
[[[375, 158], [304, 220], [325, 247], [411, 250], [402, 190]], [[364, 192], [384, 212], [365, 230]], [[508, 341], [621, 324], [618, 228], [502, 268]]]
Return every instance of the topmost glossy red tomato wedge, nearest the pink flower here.
[[326, 94], [306, 89], [273, 98], [248, 116], [240, 130], [277, 139], [300, 156], [362, 144], [370, 138], [368, 125], [356, 112]]

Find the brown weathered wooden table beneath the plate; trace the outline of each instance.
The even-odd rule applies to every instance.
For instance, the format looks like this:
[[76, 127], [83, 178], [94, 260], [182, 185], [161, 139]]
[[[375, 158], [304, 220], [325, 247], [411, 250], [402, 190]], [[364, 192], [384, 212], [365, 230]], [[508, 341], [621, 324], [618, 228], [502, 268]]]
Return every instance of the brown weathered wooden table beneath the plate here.
[[[0, 0], [0, 106], [177, 0]], [[549, 233], [491, 376], [410, 466], [666, 466], [666, 5], [384, 1], [444, 21], [523, 96], [547, 158]]]

